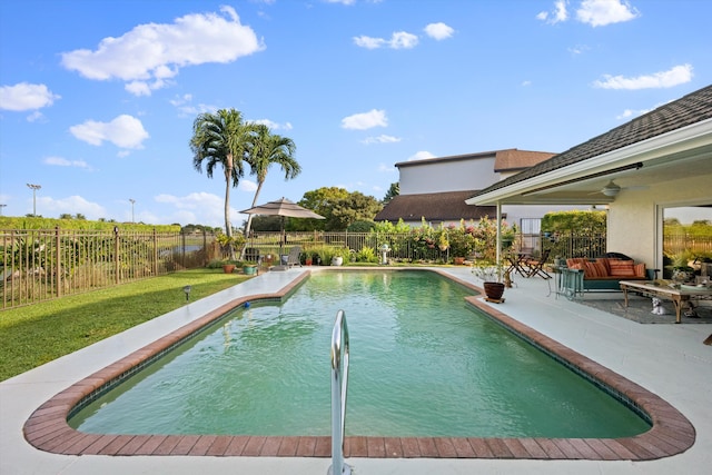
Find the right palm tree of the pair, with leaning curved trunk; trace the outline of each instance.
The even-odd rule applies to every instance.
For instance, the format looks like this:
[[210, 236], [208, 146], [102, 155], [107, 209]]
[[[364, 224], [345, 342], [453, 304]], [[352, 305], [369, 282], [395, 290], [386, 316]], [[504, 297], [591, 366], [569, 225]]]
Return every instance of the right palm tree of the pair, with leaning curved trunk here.
[[[253, 207], [257, 206], [259, 191], [263, 189], [267, 171], [271, 165], [278, 165], [285, 172], [285, 180], [295, 178], [301, 172], [301, 167], [294, 158], [296, 146], [294, 140], [271, 133], [264, 125], [254, 125], [250, 131], [250, 145], [245, 161], [249, 164], [250, 175], [257, 177], [257, 190], [253, 198]], [[253, 215], [247, 218], [245, 235], [249, 236]]]

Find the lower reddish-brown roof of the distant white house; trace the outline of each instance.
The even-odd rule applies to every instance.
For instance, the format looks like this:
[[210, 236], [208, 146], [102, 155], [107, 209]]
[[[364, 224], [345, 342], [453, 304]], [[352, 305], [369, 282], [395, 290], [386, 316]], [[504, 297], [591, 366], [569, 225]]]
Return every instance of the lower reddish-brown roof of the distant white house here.
[[496, 215], [494, 206], [471, 206], [465, 199], [476, 190], [432, 192], [421, 195], [397, 195], [374, 218], [375, 221], [453, 221], [479, 219]]

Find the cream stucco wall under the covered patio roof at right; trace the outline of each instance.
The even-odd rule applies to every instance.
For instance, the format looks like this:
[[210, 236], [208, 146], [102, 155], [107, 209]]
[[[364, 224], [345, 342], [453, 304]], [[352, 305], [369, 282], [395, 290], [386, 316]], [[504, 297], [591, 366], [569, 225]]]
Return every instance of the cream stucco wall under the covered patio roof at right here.
[[691, 176], [644, 190], [622, 190], [609, 211], [607, 250], [662, 268], [662, 208], [712, 201], [712, 175]]

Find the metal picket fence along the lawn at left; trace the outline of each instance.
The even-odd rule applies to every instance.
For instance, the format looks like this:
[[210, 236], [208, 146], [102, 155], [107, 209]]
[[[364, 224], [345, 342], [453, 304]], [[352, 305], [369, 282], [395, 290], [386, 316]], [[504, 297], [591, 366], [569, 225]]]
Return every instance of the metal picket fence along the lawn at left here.
[[214, 243], [208, 234], [0, 230], [1, 307], [202, 267]]

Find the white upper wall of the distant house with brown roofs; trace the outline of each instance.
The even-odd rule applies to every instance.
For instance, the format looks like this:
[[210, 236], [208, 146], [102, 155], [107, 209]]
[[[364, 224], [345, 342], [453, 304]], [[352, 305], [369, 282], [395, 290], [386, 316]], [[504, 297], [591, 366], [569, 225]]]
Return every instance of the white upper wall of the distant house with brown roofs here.
[[494, 155], [469, 160], [422, 160], [398, 167], [400, 195], [483, 189], [500, 180]]

